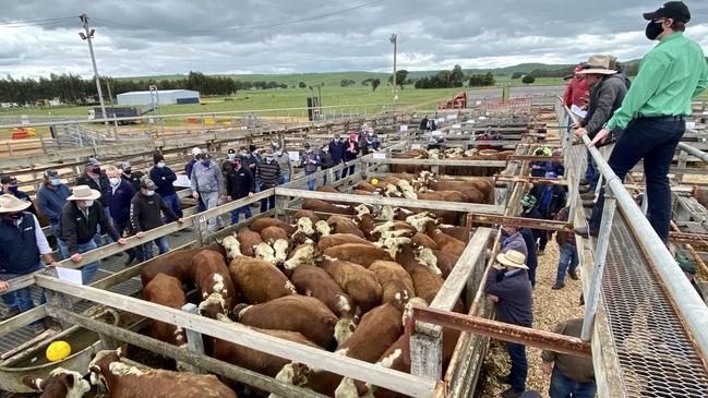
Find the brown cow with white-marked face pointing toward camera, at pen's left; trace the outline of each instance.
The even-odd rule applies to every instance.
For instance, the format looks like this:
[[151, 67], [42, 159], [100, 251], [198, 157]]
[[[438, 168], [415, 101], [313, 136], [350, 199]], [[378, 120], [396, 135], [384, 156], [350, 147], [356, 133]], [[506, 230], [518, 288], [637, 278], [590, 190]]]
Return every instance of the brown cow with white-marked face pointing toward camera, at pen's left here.
[[224, 256], [203, 251], [192, 261], [192, 280], [202, 302], [200, 313], [216, 319], [216, 314], [228, 314], [236, 305], [237, 291]]

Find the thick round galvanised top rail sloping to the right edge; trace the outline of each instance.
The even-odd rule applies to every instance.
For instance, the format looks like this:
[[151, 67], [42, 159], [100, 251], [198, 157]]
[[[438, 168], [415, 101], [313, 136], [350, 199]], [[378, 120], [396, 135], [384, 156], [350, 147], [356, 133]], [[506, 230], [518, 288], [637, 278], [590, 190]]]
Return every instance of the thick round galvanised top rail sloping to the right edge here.
[[[559, 99], [562, 101], [562, 98], [559, 97]], [[563, 106], [563, 108], [565, 113], [575, 120], [571, 110], [565, 106]], [[708, 306], [706, 306], [698, 297], [698, 293], [693, 289], [664, 242], [661, 241], [659, 236], [655, 232], [649, 220], [637, 206], [629, 192], [624, 188], [623, 181], [620, 180], [614, 171], [612, 171], [612, 168], [600, 154], [598, 148], [590, 146], [591, 141], [587, 135], [583, 136], [583, 142], [588, 147], [590, 156], [592, 156], [598, 170], [605, 180], [605, 191], [611, 192], [614, 202], [622, 209], [626, 222], [631, 227], [637, 243], [641, 246], [647, 260], [653, 266], [655, 274], [660, 278], [661, 282], [665, 287], [667, 293], [671, 298], [675, 310], [680, 313], [687, 330], [693, 336], [694, 342], [700, 351], [701, 357], [708, 359]], [[688, 148], [688, 150], [694, 149], [691, 147]], [[573, 183], [577, 184], [577, 181], [573, 181]], [[612, 216], [612, 214], [603, 214], [603, 218], [605, 216]], [[604, 239], [608, 238], [609, 237], [604, 237]], [[601, 244], [601, 242], [598, 241], [598, 246], [601, 245], [607, 248], [607, 242]], [[601, 280], [599, 280], [599, 284], [601, 284]], [[601, 286], [599, 285], [595, 286], [593, 284], [591, 286], [591, 290], [600, 290], [600, 288]], [[590, 318], [590, 321], [592, 321], [592, 318]]]

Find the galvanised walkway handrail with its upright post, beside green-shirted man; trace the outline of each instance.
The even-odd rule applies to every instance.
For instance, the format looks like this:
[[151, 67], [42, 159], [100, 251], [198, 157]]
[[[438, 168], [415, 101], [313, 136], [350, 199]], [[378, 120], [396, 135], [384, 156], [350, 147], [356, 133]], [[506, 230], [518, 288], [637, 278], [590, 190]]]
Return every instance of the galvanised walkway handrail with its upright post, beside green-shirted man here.
[[[567, 107], [563, 106], [563, 111], [566, 117], [575, 120], [575, 117]], [[559, 116], [562, 117], [562, 113], [560, 112]], [[562, 141], [565, 145], [566, 162], [571, 162], [571, 156], [568, 155], [571, 155], [571, 152], [573, 150], [572, 140], [566, 136], [566, 140]], [[586, 297], [586, 311], [581, 339], [585, 341], [590, 339], [598, 300], [602, 290], [602, 273], [609, 249], [610, 232], [612, 231], [613, 226], [614, 209], [615, 206], [619, 205], [625, 216], [626, 224], [636, 238], [637, 243], [640, 245], [646, 258], [652, 265], [656, 276], [665, 288], [665, 292], [671, 298], [671, 301], [673, 302], [676, 312], [682, 317], [686, 329], [691, 333], [696, 348], [699, 350], [703, 358], [708, 358], [708, 307], [700, 300], [698, 293], [693, 289], [688, 279], [676, 264], [673, 255], [664, 242], [655, 232], [629, 192], [624, 188], [623, 181], [620, 180], [614, 171], [612, 171], [612, 168], [600, 154], [598, 148], [590, 146], [590, 138], [587, 135], [583, 136], [583, 143], [585, 144], [585, 147], [588, 148], [589, 155], [592, 156], [592, 160], [595, 160], [600, 174], [605, 181], [605, 202], [597, 238], [598, 243], [593, 256], [593, 278], [590, 285], [589, 294]], [[680, 144], [680, 148], [701, 159], [708, 157], [706, 154], [685, 144]], [[580, 155], [578, 157], [581, 158], [583, 156]], [[578, 160], [579, 159], [573, 161], [574, 165], [572, 169], [574, 171], [581, 170], [583, 168], [581, 165], [584, 162]], [[577, 193], [579, 186], [579, 171], [574, 173], [571, 185], [571, 192]], [[571, 217], [573, 217], [573, 214], [571, 214]]]

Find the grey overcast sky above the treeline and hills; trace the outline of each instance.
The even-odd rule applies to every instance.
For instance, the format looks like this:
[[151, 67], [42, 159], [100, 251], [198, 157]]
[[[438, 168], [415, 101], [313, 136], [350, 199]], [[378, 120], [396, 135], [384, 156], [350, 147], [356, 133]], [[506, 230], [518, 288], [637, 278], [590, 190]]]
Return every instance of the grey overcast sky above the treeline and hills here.
[[[70, 3], [71, 5], [68, 5]], [[76, 3], [76, 4], [74, 4]], [[388, 71], [392, 33], [408, 70], [640, 58], [647, 0], [2, 1], [0, 75], [91, 76], [77, 17], [96, 29], [101, 75]], [[708, 1], [686, 1], [708, 52]], [[27, 22], [33, 21], [33, 22]], [[20, 23], [25, 22], [25, 23]]]

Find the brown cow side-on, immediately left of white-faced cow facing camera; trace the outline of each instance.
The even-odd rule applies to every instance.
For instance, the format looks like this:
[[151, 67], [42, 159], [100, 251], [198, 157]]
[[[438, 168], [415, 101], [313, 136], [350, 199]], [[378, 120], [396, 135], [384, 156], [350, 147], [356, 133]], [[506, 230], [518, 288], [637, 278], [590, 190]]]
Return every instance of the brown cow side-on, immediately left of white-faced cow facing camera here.
[[146, 286], [157, 274], [165, 274], [179, 279], [184, 285], [192, 284], [192, 258], [203, 250], [226, 255], [220, 244], [212, 244], [205, 248], [176, 250], [165, 253], [159, 257], [151, 260], [140, 272], [143, 286]]

